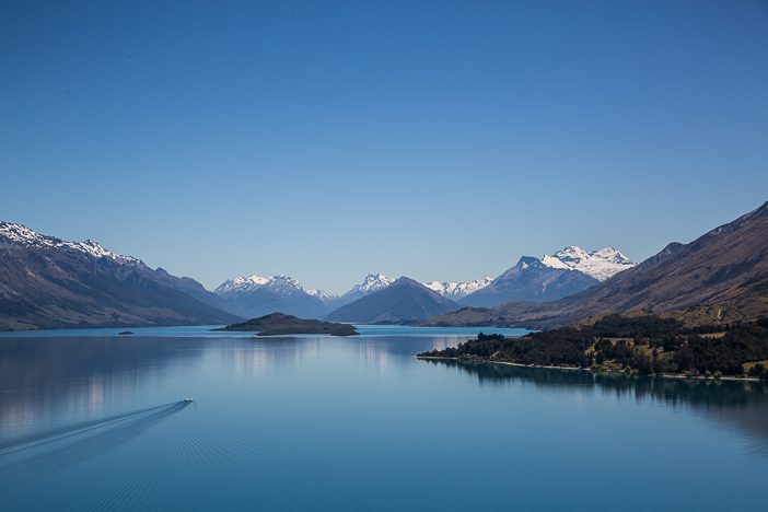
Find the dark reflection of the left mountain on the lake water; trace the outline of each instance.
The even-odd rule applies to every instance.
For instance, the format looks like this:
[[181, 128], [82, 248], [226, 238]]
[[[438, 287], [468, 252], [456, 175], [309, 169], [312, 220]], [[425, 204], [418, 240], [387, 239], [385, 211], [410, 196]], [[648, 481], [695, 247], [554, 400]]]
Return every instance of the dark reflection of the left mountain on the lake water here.
[[[203, 341], [205, 342], [205, 341]], [[0, 439], [50, 426], [58, 416], [96, 418], [159, 379], [174, 362], [195, 361], [200, 340], [38, 338], [0, 342]], [[39, 423], [39, 424], [38, 424]]]

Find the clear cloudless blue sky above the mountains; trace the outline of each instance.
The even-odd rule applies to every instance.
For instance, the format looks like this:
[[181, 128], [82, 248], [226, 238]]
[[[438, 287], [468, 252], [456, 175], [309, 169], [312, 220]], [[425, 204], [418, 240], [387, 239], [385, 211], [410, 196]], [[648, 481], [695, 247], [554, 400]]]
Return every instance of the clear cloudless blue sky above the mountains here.
[[633, 259], [768, 199], [768, 2], [0, 2], [0, 219], [208, 287]]

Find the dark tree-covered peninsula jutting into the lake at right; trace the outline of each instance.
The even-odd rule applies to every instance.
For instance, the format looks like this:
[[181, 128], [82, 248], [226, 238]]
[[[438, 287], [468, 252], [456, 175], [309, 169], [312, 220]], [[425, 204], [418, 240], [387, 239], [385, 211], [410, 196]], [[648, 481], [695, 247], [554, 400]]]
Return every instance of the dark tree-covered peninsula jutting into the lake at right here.
[[688, 328], [674, 318], [656, 315], [608, 315], [594, 325], [532, 333], [522, 338], [479, 334], [456, 348], [423, 352], [419, 357], [590, 368], [641, 375], [768, 379], [768, 318]]

